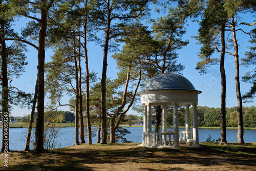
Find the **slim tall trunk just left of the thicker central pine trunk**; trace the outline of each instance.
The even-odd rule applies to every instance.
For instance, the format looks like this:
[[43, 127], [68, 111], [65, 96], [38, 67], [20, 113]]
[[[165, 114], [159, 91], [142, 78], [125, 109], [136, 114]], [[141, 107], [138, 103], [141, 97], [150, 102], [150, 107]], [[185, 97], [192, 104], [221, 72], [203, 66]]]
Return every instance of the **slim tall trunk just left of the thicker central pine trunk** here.
[[[87, 10], [86, 0], [85, 10]], [[85, 62], [86, 62], [86, 117], [87, 117], [87, 135], [88, 135], [88, 144], [92, 144], [92, 129], [91, 129], [91, 121], [90, 121], [90, 75], [89, 75], [89, 66], [88, 66], [88, 51], [87, 51], [87, 18], [88, 14], [85, 11], [86, 16], [84, 17], [83, 22], [83, 31], [84, 31], [84, 54], [85, 54]]]

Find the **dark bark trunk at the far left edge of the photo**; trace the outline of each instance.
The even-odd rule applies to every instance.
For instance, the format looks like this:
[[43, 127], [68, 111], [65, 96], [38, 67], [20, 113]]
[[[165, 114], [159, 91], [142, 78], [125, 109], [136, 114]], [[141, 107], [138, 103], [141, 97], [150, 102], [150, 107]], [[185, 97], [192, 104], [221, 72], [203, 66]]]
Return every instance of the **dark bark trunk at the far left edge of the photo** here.
[[[1, 1], [2, 4], [2, 1]], [[1, 79], [2, 79], [2, 145], [1, 153], [10, 151], [9, 149], [9, 89], [8, 89], [8, 69], [7, 69], [7, 49], [5, 42], [5, 21], [1, 20]]]

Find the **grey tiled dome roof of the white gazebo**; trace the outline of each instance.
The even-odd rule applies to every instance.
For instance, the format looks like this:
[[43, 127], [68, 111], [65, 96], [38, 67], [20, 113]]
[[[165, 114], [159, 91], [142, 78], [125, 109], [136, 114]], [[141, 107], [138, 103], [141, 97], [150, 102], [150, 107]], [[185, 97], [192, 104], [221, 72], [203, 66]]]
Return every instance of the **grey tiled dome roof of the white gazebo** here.
[[147, 82], [146, 86], [142, 90], [154, 91], [154, 90], [194, 90], [193, 84], [185, 77], [175, 73], [163, 73], [155, 76]]

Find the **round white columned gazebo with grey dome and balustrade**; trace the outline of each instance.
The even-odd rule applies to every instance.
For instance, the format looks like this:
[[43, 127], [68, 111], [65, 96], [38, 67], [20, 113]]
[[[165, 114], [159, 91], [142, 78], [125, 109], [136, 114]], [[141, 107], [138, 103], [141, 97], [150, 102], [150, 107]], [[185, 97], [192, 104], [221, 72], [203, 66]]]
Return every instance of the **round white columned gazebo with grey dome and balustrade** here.
[[[198, 94], [193, 84], [175, 73], [164, 73], [152, 78], [139, 92], [144, 106], [142, 146], [180, 148], [180, 143], [199, 147], [197, 103]], [[152, 132], [152, 105], [162, 106], [162, 133]], [[173, 131], [167, 131], [166, 107], [173, 105]], [[186, 107], [186, 131], [179, 131], [178, 105]], [[193, 131], [190, 131], [189, 107], [193, 106]]]

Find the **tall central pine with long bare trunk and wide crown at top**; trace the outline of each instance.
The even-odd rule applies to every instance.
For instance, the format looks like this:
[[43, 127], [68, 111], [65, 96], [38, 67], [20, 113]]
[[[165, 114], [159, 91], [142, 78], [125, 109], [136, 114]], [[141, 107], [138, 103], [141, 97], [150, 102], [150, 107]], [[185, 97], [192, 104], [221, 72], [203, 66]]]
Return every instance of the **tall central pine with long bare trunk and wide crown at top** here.
[[108, 65], [108, 52], [113, 44], [110, 40], [126, 34], [126, 28], [131, 26], [134, 19], [143, 17], [147, 12], [147, 0], [140, 1], [97, 1], [93, 4], [95, 30], [104, 35], [103, 67], [101, 77], [101, 143], [106, 144], [106, 68]]

